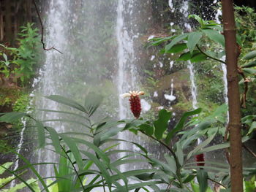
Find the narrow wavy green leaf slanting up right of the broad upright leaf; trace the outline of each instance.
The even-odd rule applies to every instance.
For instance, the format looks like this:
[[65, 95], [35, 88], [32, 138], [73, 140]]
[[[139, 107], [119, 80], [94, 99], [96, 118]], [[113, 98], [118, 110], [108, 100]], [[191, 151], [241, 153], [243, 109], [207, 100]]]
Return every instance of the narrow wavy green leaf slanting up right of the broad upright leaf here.
[[181, 131], [182, 128], [184, 128], [184, 123], [186, 122], [187, 118], [192, 115], [197, 115], [202, 111], [202, 109], [197, 109], [193, 110], [190, 112], [185, 112], [182, 116], [181, 119], [178, 121], [176, 126], [167, 134], [167, 137], [165, 139], [165, 142], [167, 145], [170, 144], [170, 139], [173, 138], [173, 135], [176, 134], [176, 132]]

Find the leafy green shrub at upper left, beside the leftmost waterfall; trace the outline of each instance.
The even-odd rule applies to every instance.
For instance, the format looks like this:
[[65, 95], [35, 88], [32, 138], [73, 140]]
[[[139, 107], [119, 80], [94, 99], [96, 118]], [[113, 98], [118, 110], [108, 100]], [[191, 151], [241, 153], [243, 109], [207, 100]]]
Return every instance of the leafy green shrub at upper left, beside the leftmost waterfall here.
[[19, 39], [17, 39], [18, 47], [1, 45], [4, 49], [1, 53], [4, 59], [0, 61], [0, 64], [3, 69], [1, 72], [6, 77], [15, 74], [17, 79], [26, 84], [34, 77], [39, 62], [39, 33], [38, 29], [34, 28], [34, 23], [27, 23], [26, 26], [20, 28]]

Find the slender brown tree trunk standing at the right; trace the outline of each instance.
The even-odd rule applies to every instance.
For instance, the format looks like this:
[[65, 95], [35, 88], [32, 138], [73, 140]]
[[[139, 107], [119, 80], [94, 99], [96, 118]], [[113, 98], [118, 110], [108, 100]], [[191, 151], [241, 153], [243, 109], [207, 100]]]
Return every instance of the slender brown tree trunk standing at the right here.
[[222, 0], [222, 15], [227, 63], [227, 96], [229, 107], [231, 191], [243, 192], [241, 114], [238, 87], [238, 47], [233, 0]]

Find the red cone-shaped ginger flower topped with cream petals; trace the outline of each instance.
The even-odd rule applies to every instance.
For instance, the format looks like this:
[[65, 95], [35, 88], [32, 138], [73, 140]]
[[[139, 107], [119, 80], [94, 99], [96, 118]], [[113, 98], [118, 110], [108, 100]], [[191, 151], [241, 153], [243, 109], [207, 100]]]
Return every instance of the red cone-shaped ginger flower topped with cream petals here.
[[129, 93], [124, 93], [122, 97], [129, 97], [129, 104], [131, 106], [132, 114], [135, 118], [140, 118], [141, 112], [141, 104], [140, 104], [140, 96], [144, 95], [143, 91], [129, 91]]

